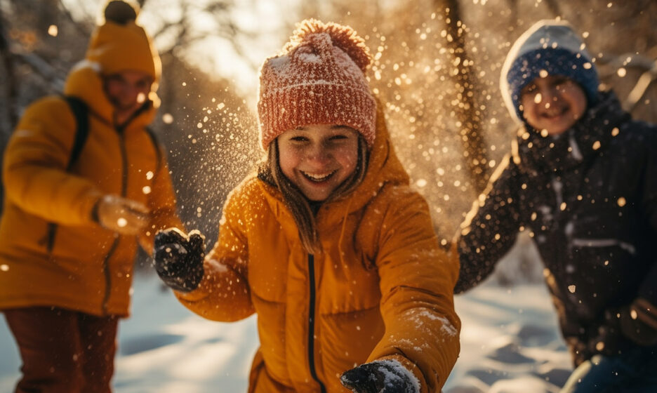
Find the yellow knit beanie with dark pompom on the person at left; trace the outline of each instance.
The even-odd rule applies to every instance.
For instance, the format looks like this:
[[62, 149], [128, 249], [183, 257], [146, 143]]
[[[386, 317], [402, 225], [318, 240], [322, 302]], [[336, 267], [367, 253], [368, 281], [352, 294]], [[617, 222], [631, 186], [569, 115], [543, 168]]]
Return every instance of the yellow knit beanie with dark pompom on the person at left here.
[[105, 75], [132, 69], [159, 80], [161, 62], [145, 30], [135, 23], [138, 8], [113, 0], [105, 7], [105, 23], [91, 36], [86, 59], [97, 62]]

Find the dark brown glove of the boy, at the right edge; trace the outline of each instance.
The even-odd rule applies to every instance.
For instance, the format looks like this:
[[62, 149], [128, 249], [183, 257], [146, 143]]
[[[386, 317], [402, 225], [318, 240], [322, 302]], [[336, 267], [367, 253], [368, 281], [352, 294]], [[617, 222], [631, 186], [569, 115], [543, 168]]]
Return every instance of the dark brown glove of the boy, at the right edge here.
[[625, 337], [642, 346], [657, 344], [657, 309], [648, 300], [637, 298], [623, 307], [619, 320]]

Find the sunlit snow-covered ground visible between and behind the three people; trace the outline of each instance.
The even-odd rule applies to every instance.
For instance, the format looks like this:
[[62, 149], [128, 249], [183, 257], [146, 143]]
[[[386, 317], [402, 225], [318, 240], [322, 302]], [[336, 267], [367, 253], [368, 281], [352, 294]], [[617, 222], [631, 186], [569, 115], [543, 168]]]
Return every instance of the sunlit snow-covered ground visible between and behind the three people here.
[[[138, 275], [133, 316], [119, 325], [116, 393], [246, 392], [258, 346], [253, 317], [233, 324], [187, 311], [157, 277]], [[493, 281], [456, 297], [461, 353], [444, 393], [558, 392], [570, 357], [543, 284]], [[0, 392], [11, 392], [20, 359], [0, 319]]]

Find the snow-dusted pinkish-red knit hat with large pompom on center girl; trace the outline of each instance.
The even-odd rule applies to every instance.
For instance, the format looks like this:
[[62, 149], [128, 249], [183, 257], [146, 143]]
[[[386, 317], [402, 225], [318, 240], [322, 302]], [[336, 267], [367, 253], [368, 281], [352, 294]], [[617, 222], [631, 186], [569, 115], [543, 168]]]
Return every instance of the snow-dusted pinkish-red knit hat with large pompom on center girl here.
[[376, 102], [364, 72], [371, 56], [351, 27], [303, 20], [260, 68], [260, 142], [309, 124], [341, 124], [374, 143]]

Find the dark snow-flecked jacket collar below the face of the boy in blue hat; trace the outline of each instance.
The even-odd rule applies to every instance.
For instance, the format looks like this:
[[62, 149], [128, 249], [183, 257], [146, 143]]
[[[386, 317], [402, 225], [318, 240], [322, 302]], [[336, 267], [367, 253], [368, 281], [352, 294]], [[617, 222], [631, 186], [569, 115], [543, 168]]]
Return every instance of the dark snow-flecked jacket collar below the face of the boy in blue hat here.
[[528, 173], [558, 173], [580, 166], [603, 152], [618, 133], [618, 126], [630, 115], [623, 111], [612, 91], [599, 93], [597, 102], [560, 135], [543, 137], [525, 124], [512, 142], [515, 164]]

